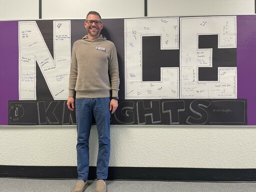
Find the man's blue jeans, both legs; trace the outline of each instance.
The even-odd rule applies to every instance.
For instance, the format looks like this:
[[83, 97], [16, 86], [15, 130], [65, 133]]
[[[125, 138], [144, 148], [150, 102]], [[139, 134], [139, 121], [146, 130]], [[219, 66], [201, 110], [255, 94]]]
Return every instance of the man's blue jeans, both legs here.
[[110, 98], [76, 98], [77, 173], [79, 180], [86, 180], [89, 171], [89, 135], [92, 114], [98, 132], [97, 179], [106, 179], [110, 155]]

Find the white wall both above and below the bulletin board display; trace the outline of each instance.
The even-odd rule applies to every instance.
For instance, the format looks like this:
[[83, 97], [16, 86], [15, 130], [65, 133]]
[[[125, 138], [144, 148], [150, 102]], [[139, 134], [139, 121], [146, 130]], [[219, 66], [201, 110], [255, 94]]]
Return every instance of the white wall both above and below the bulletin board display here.
[[[254, 13], [254, 0], [148, 0], [147, 5], [148, 16]], [[42, 0], [42, 18], [84, 18], [90, 9], [103, 18], [141, 17], [143, 8], [144, 0]], [[36, 18], [36, 0], [0, 0], [0, 19]], [[112, 125], [109, 165], [255, 168], [255, 138], [254, 126]], [[0, 165], [75, 166], [75, 144], [75, 126], [0, 126]], [[90, 149], [95, 166], [95, 126]]]

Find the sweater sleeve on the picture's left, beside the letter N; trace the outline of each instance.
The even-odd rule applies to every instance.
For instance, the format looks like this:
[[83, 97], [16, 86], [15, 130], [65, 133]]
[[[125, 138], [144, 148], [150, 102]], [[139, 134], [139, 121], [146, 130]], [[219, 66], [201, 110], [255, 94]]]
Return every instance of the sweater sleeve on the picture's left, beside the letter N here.
[[72, 58], [70, 64], [70, 73], [69, 73], [69, 84], [68, 84], [68, 96], [75, 96], [75, 84], [77, 79], [77, 59], [75, 55], [75, 46], [76, 43], [74, 42], [72, 48]]

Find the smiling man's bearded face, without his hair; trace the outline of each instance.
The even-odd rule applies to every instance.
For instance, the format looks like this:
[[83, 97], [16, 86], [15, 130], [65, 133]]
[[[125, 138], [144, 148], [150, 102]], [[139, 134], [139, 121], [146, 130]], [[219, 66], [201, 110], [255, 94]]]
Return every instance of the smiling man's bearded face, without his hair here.
[[[89, 14], [86, 20], [101, 20], [98, 15], [95, 14]], [[89, 39], [95, 39], [99, 36], [101, 29], [103, 28], [103, 23], [95, 24], [93, 22], [92, 24], [88, 24], [86, 21], [84, 21], [84, 26], [88, 32], [88, 38]]]

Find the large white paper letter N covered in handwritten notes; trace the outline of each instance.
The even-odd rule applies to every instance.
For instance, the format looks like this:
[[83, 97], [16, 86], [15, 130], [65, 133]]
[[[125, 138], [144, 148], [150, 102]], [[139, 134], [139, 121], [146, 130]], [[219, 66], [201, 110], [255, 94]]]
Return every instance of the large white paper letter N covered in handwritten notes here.
[[36, 99], [35, 61], [54, 99], [66, 99], [71, 59], [70, 21], [53, 21], [52, 58], [35, 21], [19, 22], [19, 99]]

